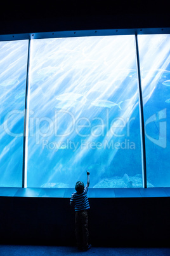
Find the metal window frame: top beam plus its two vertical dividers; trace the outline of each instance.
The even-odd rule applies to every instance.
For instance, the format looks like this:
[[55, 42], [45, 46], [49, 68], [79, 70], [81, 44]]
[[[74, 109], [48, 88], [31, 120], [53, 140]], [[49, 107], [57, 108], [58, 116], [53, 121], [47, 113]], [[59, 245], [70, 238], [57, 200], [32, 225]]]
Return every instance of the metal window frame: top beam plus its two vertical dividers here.
[[136, 46], [136, 64], [138, 71], [138, 92], [140, 105], [140, 129], [141, 129], [141, 160], [143, 171], [143, 188], [147, 188], [147, 164], [146, 164], [146, 149], [145, 149], [145, 124], [143, 115], [143, 98], [141, 90], [141, 75], [140, 75], [140, 55], [138, 48], [139, 34], [170, 34], [170, 28], [145, 28], [145, 29], [100, 29], [86, 31], [56, 31], [56, 32], [36, 32], [25, 34], [8, 34], [0, 35], [0, 41], [13, 41], [29, 39], [28, 57], [27, 57], [27, 79], [25, 89], [25, 115], [24, 115], [24, 130], [23, 130], [23, 168], [22, 168], [22, 187], [27, 187], [27, 139], [28, 139], [28, 123], [29, 123], [29, 68], [30, 68], [30, 41], [31, 39], [45, 38], [69, 38], [82, 36], [121, 36], [134, 35]]

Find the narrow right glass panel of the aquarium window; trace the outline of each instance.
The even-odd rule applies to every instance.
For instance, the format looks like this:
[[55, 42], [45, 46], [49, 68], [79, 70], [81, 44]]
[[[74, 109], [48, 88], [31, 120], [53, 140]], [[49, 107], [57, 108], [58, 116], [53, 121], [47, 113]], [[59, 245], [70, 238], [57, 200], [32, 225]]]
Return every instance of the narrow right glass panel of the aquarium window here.
[[[170, 35], [138, 36], [145, 118], [147, 180], [170, 186]], [[150, 183], [149, 183], [150, 182]]]

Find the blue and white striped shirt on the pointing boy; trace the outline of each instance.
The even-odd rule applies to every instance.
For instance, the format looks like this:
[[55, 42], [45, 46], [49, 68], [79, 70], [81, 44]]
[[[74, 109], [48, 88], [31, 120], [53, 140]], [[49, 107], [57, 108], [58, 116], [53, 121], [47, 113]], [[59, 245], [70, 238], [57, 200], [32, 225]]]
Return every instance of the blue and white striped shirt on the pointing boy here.
[[77, 192], [72, 194], [70, 202], [74, 203], [75, 211], [82, 211], [89, 209], [89, 199], [88, 199], [88, 187], [84, 188], [84, 191], [81, 194], [77, 194]]

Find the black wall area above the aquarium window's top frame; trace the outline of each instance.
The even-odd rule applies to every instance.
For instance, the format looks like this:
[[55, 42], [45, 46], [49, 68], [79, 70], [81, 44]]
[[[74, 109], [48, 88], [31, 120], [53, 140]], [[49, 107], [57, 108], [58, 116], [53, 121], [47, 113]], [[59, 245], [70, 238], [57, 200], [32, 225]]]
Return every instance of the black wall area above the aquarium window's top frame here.
[[4, 1], [0, 34], [169, 27], [168, 0]]

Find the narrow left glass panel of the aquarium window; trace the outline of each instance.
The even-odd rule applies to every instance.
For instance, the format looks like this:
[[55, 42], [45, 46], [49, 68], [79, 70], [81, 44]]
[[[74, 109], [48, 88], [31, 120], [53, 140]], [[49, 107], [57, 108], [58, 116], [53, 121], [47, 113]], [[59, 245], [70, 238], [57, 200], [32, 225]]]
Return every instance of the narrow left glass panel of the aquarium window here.
[[0, 186], [22, 186], [28, 40], [0, 42]]

